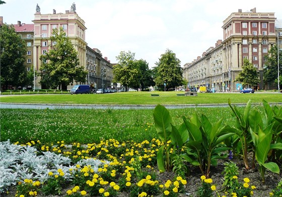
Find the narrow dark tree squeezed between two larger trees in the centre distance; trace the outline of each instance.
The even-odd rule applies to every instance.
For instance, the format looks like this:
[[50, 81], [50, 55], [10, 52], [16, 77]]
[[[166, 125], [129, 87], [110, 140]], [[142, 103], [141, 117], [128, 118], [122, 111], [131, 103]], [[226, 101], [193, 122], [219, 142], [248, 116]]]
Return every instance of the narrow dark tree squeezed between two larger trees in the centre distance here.
[[153, 80], [153, 72], [149, 68], [149, 64], [146, 62], [146, 60], [136, 60], [136, 67], [138, 67], [140, 70], [139, 81], [141, 89], [155, 85], [155, 82]]

